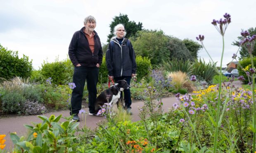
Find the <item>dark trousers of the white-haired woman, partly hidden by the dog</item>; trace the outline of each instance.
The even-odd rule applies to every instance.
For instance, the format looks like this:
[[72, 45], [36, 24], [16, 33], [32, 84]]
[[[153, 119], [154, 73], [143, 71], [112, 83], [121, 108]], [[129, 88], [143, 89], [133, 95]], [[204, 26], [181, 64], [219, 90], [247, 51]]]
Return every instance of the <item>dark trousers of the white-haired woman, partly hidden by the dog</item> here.
[[[132, 78], [131, 76], [121, 76], [121, 77], [115, 77], [114, 80], [115, 80], [115, 82], [117, 82], [117, 81], [119, 81], [119, 80], [126, 79], [127, 83], [128, 83], [129, 86], [130, 86], [130, 79], [131, 79], [131, 78]], [[124, 108], [125, 108], [125, 109], [131, 108], [130, 105], [132, 104], [132, 99], [131, 99], [131, 97], [130, 97], [130, 89], [125, 89], [125, 90], [123, 90], [123, 92], [121, 92], [121, 97], [120, 97], [120, 99], [122, 99], [123, 93], [124, 93], [124, 103], [125, 103]]]

